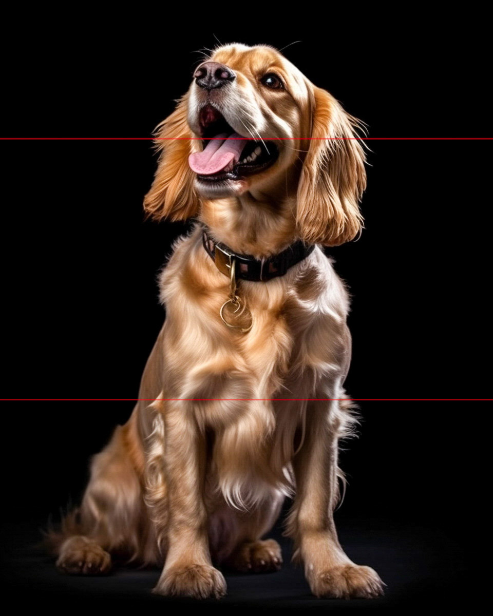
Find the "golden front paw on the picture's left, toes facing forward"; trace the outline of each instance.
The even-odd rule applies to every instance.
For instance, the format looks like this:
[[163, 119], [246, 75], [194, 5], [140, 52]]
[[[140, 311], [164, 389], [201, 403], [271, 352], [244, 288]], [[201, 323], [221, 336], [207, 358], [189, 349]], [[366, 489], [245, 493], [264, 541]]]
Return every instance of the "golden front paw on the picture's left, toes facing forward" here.
[[220, 599], [226, 580], [212, 565], [176, 565], [163, 571], [153, 593], [192, 599]]

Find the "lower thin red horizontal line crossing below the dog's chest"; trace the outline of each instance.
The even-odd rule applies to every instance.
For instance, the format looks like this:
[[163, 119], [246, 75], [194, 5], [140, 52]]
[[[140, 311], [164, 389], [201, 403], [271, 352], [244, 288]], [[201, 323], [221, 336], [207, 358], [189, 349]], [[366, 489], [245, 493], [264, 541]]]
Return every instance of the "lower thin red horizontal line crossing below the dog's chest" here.
[[493, 398], [0, 398], [0, 402], [493, 402]]

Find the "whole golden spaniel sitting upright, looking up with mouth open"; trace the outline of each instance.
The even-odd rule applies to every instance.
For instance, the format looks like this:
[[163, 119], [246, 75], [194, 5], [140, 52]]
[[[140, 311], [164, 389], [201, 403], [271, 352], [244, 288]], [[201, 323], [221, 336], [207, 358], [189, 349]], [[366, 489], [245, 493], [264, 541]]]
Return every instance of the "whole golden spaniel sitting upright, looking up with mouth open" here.
[[373, 598], [338, 542], [348, 293], [322, 246], [354, 239], [365, 153], [356, 118], [269, 46], [228, 44], [157, 128], [154, 219], [195, 219], [160, 277], [165, 324], [128, 423], [94, 456], [51, 535], [59, 569], [163, 566], [155, 593], [220, 598], [216, 566], [271, 572], [287, 535], [312, 593]]

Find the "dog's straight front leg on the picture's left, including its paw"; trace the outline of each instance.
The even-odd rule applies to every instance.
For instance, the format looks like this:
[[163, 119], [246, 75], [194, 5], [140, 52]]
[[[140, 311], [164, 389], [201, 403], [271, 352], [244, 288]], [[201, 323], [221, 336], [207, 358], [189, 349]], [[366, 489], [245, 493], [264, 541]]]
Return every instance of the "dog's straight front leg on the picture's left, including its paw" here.
[[205, 599], [226, 593], [224, 577], [211, 564], [203, 490], [205, 439], [193, 411], [181, 403], [163, 413], [168, 499], [168, 553], [155, 592]]

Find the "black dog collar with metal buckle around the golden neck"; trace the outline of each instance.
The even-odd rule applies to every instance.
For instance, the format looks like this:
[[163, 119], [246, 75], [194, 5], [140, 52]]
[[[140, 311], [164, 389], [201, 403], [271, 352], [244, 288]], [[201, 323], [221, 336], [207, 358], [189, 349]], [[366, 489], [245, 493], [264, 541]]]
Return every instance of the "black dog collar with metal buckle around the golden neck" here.
[[314, 245], [306, 246], [303, 241], [298, 240], [288, 246], [282, 253], [275, 254], [268, 259], [255, 259], [251, 254], [238, 254], [221, 242], [214, 241], [205, 229], [202, 231], [202, 242], [207, 254], [216, 264], [219, 272], [229, 276], [230, 267], [235, 264], [236, 280], [251, 280], [254, 282], [265, 282], [283, 276], [290, 267], [296, 265], [315, 248]]

